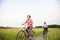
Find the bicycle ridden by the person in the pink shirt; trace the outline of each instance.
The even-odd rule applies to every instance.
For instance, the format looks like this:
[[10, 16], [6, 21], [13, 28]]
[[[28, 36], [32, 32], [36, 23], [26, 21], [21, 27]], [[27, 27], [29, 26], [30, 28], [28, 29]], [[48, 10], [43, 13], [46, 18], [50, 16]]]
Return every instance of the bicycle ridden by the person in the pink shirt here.
[[30, 33], [31, 38], [28, 38], [28, 34], [26, 34], [24, 30], [20, 30], [16, 35], [16, 40], [32, 40], [34, 33], [35, 32], [32, 30]]

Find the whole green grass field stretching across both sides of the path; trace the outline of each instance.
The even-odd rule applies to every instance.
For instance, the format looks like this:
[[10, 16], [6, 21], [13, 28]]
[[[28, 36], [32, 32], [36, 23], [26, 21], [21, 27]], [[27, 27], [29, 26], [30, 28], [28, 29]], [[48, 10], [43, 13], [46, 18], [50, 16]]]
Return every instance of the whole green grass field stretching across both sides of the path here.
[[[16, 40], [16, 34], [21, 29], [0, 29], [0, 40]], [[43, 32], [42, 28], [34, 28], [34, 36], [41, 35]], [[46, 40], [60, 40], [60, 29], [49, 28], [49, 35]]]

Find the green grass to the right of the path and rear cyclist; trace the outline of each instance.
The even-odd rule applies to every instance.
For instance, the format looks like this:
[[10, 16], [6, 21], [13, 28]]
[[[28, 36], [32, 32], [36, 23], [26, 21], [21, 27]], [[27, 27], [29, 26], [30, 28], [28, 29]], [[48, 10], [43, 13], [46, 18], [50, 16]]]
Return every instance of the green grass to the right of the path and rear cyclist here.
[[46, 37], [46, 40], [60, 40], [60, 28], [53, 28]]

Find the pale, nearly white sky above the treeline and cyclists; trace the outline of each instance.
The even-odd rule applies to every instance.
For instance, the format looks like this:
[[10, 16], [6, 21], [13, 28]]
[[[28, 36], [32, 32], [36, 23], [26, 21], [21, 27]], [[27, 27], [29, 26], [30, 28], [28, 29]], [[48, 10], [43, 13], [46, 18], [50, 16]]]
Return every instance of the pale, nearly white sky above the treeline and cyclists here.
[[60, 24], [59, 0], [0, 0], [0, 26], [18, 27], [30, 14], [34, 26]]

